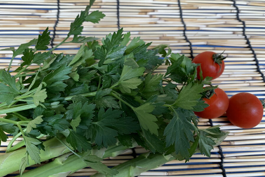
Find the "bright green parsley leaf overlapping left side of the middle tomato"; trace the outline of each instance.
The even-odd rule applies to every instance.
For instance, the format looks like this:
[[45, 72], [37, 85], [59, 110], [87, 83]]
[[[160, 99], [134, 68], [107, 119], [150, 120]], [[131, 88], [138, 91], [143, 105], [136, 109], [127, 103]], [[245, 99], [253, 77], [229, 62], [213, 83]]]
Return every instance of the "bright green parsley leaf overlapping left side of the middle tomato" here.
[[200, 99], [202, 96], [200, 95], [202, 91], [203, 84], [195, 83], [192, 86], [192, 83], [189, 83], [187, 86], [183, 86], [179, 96], [172, 106], [183, 109], [193, 109], [192, 106], [196, 106], [198, 99]]

